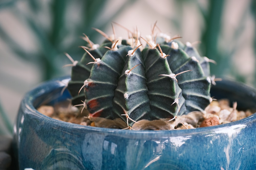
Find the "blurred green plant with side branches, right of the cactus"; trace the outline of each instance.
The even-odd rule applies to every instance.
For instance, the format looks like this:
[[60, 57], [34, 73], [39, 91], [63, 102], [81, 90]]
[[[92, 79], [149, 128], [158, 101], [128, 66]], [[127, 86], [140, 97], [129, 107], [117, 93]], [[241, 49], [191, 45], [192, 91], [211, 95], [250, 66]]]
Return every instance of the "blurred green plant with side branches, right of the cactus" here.
[[[238, 27], [231, 27], [233, 30], [232, 40], [230, 40], [226, 45], [227, 47], [220, 48], [220, 37], [225, 34], [223, 29], [223, 15], [227, 1], [216, 0], [209, 1], [208, 12], [201, 8], [201, 14], [204, 17], [205, 29], [202, 32], [201, 44], [204, 45], [204, 54], [205, 56], [215, 60], [218, 64], [211, 67], [211, 73], [217, 77], [223, 77], [223, 75], [230, 75], [237, 81], [246, 82], [244, 75], [240, 74], [238, 69], [234, 67], [232, 58], [234, 55], [243, 48], [241, 39], [245, 29], [246, 18], [248, 17], [248, 11], [251, 7], [251, 4], [255, 4], [254, 0], [251, 0], [251, 3], [247, 3], [247, 6], [241, 12], [240, 18], [238, 20]], [[200, 8], [200, 5], [199, 5]], [[251, 8], [255, 12], [255, 8]], [[253, 12], [252, 12], [253, 13]], [[232, 16], [229, 16], [232, 17]], [[255, 41], [256, 38], [254, 38]], [[245, 44], [244, 44], [245, 45]], [[229, 48], [231, 47], [231, 48]], [[256, 56], [256, 55], [255, 55]], [[254, 57], [255, 57], [254, 56]], [[254, 80], [255, 81], [255, 80]]]

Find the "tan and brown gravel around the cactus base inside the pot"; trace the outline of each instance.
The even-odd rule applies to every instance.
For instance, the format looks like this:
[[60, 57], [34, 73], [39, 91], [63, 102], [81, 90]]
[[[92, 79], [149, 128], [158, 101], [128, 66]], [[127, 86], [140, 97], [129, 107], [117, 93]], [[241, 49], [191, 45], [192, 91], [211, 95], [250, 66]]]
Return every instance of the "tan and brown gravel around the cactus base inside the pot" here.
[[[70, 123], [76, 123], [80, 125], [89, 125], [89, 126], [99, 126], [99, 127], [105, 127], [106, 122], [107, 124], [113, 123], [113, 127], [115, 127], [118, 122], [113, 122], [110, 120], [104, 120], [104, 118], [92, 119], [88, 118], [89, 112], [88, 110], [84, 108], [76, 108], [74, 106], [71, 106], [70, 103], [59, 103], [55, 106], [40, 106], [38, 108], [38, 111], [42, 114], [45, 114], [49, 117], [52, 117], [57, 120], [70, 122]], [[222, 100], [213, 100], [209, 106], [206, 107], [204, 112], [191, 112], [188, 115], [182, 115], [177, 116], [175, 119], [176, 121], [168, 121], [168, 120], [160, 120], [160, 121], [149, 121], [143, 123], [148, 124], [147, 126], [154, 126], [152, 130], [158, 130], [158, 129], [191, 129], [191, 128], [198, 128], [198, 127], [206, 127], [206, 126], [215, 126], [219, 124], [225, 124], [233, 121], [237, 121], [240, 119], [243, 119], [247, 116], [252, 115], [254, 112], [251, 110], [246, 111], [238, 111], [237, 110], [237, 103], [234, 102], [232, 104], [232, 107], [230, 107], [230, 103], [226, 99]], [[178, 119], [181, 118], [181, 119]], [[97, 122], [97, 121], [98, 122]], [[141, 120], [143, 121], [143, 120]], [[140, 121], [139, 121], [140, 122]], [[152, 125], [151, 122], [155, 122], [154, 125]], [[102, 124], [102, 125], [101, 125]], [[142, 130], [146, 129], [145, 127], [140, 127], [142, 123], [135, 123], [136, 130]], [[201, 125], [202, 124], [202, 125]], [[121, 128], [121, 126], [120, 126]], [[124, 128], [124, 127], [122, 127]], [[124, 129], [134, 129], [131, 127], [126, 127]], [[151, 129], [151, 128], [150, 128]]]

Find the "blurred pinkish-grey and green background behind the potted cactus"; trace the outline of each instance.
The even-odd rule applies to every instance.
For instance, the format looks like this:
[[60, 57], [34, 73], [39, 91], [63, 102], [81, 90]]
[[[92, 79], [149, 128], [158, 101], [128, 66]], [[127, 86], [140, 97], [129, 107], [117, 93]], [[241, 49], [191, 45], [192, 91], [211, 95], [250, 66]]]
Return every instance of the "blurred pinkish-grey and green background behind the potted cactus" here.
[[[111, 22], [136, 27], [142, 37], [152, 25], [199, 54], [217, 62], [211, 74], [256, 87], [255, 0], [1, 0], [0, 1], [0, 135], [11, 135], [19, 103], [39, 83], [70, 74], [67, 52], [79, 60], [86, 45], [112, 34]], [[127, 31], [115, 25], [116, 35]]]

